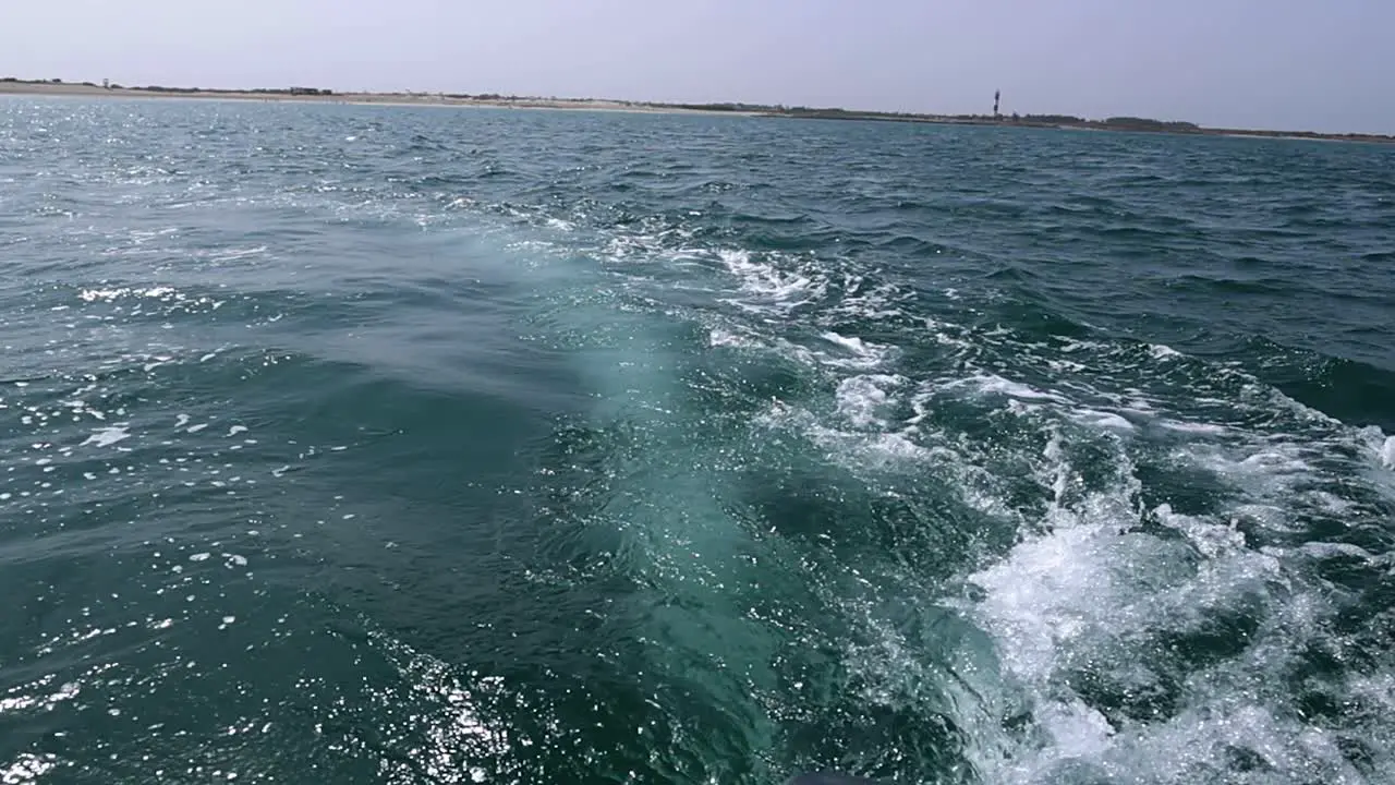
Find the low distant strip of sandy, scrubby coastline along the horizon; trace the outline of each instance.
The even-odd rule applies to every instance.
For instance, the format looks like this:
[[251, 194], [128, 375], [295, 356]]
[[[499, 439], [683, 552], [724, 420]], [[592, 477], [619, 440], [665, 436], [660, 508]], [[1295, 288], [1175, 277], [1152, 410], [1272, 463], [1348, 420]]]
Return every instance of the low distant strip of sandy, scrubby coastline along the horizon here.
[[1260, 129], [1208, 129], [1193, 123], [1162, 122], [1145, 117], [1110, 117], [1087, 120], [1064, 115], [1028, 115], [1020, 117], [990, 115], [915, 115], [862, 112], [851, 109], [810, 109], [804, 106], [763, 106], [748, 103], [663, 103], [646, 101], [611, 101], [590, 98], [536, 98], [513, 95], [465, 95], [441, 92], [332, 92], [314, 88], [280, 89], [204, 89], [166, 87], [103, 87], [95, 82], [56, 82], [4, 78], [0, 95], [53, 95], [80, 98], [186, 98], [216, 101], [279, 101], [307, 103], [352, 103], [378, 106], [458, 106], [505, 109], [583, 109], [593, 112], [638, 112], [664, 115], [735, 115], [746, 117], [783, 117], [792, 120], [868, 120], [891, 123], [929, 123], [947, 126], [1002, 126], [1025, 129], [1067, 129], [1098, 131], [1165, 133], [1242, 138], [1288, 138], [1315, 141], [1355, 141], [1395, 144], [1385, 134], [1327, 134], [1317, 131], [1274, 131]]

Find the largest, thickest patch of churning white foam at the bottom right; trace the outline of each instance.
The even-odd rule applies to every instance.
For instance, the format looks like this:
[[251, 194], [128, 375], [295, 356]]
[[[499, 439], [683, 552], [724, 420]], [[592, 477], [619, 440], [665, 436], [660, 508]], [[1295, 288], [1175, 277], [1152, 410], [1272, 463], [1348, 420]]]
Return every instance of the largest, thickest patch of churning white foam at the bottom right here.
[[[1049, 464], [1064, 467], [1057, 441], [1046, 453]], [[1243, 480], [1251, 492], [1286, 487], [1300, 474], [1315, 476], [1303, 450], [1283, 443], [1182, 455]], [[1334, 612], [1285, 560], [1350, 557], [1370, 564], [1374, 555], [1345, 543], [1254, 550], [1233, 521], [1183, 515], [1166, 504], [1152, 517], [1182, 539], [1156, 538], [1136, 531], [1133, 499], [1134, 490], [1122, 486], [1074, 507], [1050, 506], [1039, 534], [970, 578], [983, 595], [968, 612], [993, 637], [1009, 684], [1030, 700], [1039, 733], [1009, 754], [983, 756], [985, 777], [1115, 781], [1147, 771], [1159, 782], [1189, 782], [1202, 777], [1198, 772], [1233, 772], [1235, 750], [1243, 750], [1262, 761], [1256, 771], [1274, 775], [1261, 781], [1362, 782], [1336, 746], [1339, 732], [1307, 725], [1293, 711], [1296, 697], [1272, 673], [1309, 640], [1325, 638], [1321, 620]], [[1233, 508], [1236, 515], [1256, 511], [1251, 503]], [[1258, 626], [1237, 654], [1186, 665], [1184, 680], [1158, 680], [1151, 661], [1169, 656], [1154, 648], [1159, 636], [1207, 636], [1215, 619], [1236, 615]], [[1073, 679], [1083, 670], [1137, 694], [1172, 690], [1175, 711], [1112, 725], [1076, 693]], [[1387, 691], [1395, 683], [1384, 672], [1375, 679]], [[1356, 689], [1349, 686], [1349, 694]], [[1387, 697], [1395, 704], [1395, 693]], [[1384, 719], [1370, 725], [1360, 728], [1362, 738], [1388, 733]]]

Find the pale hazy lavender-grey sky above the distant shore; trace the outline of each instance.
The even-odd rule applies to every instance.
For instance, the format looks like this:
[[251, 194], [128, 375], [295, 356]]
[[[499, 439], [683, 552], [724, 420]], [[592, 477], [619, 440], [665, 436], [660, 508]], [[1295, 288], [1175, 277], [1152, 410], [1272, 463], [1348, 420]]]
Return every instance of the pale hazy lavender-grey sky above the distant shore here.
[[0, 75], [1395, 133], [1395, 0], [0, 0]]

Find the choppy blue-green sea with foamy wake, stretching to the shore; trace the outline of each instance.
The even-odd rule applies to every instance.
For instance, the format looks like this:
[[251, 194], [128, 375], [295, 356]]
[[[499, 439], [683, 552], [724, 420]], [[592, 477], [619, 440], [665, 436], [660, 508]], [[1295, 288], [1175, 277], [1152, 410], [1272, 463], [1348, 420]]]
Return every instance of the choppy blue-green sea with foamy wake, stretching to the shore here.
[[0, 102], [0, 781], [1395, 781], [1395, 151]]

